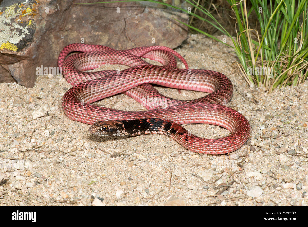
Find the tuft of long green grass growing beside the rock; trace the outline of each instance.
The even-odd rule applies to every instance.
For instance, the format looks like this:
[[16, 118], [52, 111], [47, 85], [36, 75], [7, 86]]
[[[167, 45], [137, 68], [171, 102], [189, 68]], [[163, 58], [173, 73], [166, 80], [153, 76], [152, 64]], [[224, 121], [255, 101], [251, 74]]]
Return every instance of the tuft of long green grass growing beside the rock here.
[[[140, 2], [145, 0], [95, 2]], [[236, 18], [237, 37], [217, 22], [215, 17], [196, 1], [185, 0], [191, 10], [182, 9], [164, 2], [148, 0], [189, 14], [210, 26], [222, 35], [228, 36], [233, 45], [225, 43], [196, 27], [180, 22], [190, 29], [232, 47], [239, 61], [240, 70], [250, 86], [264, 85], [270, 92], [276, 87], [296, 86], [308, 76], [308, 23], [306, 0], [251, 0], [252, 7], [247, 8], [246, 0], [227, 0]], [[199, 16], [193, 12], [199, 11]], [[258, 31], [249, 27], [252, 12], [257, 15]], [[265, 69], [265, 71], [264, 71]]]

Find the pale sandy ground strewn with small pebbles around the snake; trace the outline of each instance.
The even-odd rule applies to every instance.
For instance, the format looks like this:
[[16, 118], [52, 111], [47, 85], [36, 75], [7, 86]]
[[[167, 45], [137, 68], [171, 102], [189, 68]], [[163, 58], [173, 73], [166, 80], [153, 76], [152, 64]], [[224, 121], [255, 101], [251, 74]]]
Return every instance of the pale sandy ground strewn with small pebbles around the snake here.
[[[227, 105], [249, 120], [249, 144], [213, 156], [190, 152], [163, 135], [98, 139], [88, 133], [89, 125], [64, 114], [61, 99], [71, 87], [64, 78], [39, 76], [33, 89], [2, 83], [0, 176], [8, 179], [0, 185], [0, 204], [307, 205], [308, 81], [268, 94], [249, 88], [233, 64], [232, 49], [216, 41], [190, 35], [176, 51], [190, 68], [231, 79], [234, 93]], [[204, 95], [158, 89], [177, 99]], [[123, 94], [99, 104], [145, 110]], [[34, 119], [35, 114], [43, 116]], [[185, 127], [207, 138], [229, 134], [212, 125]]]

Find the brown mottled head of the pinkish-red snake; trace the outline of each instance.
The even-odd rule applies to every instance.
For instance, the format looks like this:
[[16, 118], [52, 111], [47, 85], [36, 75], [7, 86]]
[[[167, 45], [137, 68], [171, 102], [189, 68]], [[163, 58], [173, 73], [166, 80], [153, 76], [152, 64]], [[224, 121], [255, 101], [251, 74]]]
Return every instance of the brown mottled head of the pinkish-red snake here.
[[125, 128], [121, 121], [95, 122], [89, 132], [97, 136], [125, 136]]

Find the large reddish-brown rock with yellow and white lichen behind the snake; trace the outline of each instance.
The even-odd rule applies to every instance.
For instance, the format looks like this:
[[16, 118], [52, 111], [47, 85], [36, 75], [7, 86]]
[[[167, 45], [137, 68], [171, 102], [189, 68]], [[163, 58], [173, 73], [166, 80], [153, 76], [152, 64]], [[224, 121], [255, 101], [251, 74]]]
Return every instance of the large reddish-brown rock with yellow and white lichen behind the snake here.
[[152, 45], [176, 48], [188, 34], [186, 26], [171, 19], [188, 23], [187, 14], [136, 2], [91, 7], [78, 7], [74, 0], [7, 2], [10, 5], [2, 4], [0, 17], [0, 82], [17, 81], [26, 87], [33, 87], [37, 76], [59, 74], [55, 56], [77, 40], [122, 50]]

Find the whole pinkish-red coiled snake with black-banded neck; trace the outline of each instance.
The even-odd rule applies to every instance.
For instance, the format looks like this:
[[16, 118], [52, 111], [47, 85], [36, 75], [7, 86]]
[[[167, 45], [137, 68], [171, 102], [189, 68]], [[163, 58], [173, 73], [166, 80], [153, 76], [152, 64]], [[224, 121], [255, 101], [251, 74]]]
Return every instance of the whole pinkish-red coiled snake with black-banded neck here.
[[[185, 69], [177, 68], [175, 57]], [[150, 64], [142, 58], [162, 65]], [[123, 64], [129, 68], [88, 72], [102, 64]], [[91, 134], [102, 137], [162, 134], [189, 151], [210, 155], [236, 151], [250, 137], [247, 118], [225, 106], [233, 94], [229, 78], [216, 71], [190, 69], [184, 58], [169, 47], [116, 50], [103, 45], [72, 43], [60, 52], [58, 67], [73, 85], [62, 99], [64, 113], [74, 121], [90, 124]], [[194, 100], [177, 100], [160, 94], [152, 84], [209, 94]], [[119, 93], [132, 97], [147, 110], [124, 111], [91, 104]], [[183, 124], [217, 125], [231, 134], [201, 138]]]

